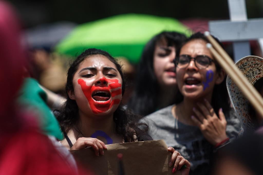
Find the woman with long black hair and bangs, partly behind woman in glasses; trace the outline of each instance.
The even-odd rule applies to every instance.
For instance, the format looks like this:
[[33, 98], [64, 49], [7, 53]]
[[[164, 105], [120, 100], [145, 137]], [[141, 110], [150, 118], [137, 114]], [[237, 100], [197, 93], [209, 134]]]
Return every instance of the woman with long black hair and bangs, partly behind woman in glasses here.
[[148, 115], [174, 103], [177, 85], [173, 60], [184, 39], [183, 34], [164, 31], [145, 45], [128, 103], [136, 114]]

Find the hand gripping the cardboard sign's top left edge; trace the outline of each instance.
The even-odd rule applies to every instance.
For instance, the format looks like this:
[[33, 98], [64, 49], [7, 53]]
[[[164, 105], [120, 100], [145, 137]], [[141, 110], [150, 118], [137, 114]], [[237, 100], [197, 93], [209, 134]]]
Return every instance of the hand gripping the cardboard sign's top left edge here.
[[74, 143], [74, 145], [70, 148], [70, 150], [84, 149], [87, 146], [90, 146], [93, 148], [96, 156], [99, 156], [99, 154], [104, 155], [103, 149], [107, 150], [107, 147], [103, 143], [103, 141], [97, 138], [91, 138], [91, 137], [78, 138], [78, 140]]

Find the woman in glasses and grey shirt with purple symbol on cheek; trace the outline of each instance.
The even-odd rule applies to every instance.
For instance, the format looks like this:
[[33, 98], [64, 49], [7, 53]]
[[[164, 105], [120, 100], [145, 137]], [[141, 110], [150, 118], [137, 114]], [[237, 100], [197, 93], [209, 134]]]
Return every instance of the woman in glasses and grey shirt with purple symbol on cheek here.
[[183, 43], [174, 61], [176, 102], [146, 117], [154, 121], [149, 126], [153, 139], [164, 139], [179, 151], [191, 163], [193, 174], [208, 174], [213, 150], [235, 138], [241, 127], [230, 109], [225, 71], [206, 43], [201, 33]]

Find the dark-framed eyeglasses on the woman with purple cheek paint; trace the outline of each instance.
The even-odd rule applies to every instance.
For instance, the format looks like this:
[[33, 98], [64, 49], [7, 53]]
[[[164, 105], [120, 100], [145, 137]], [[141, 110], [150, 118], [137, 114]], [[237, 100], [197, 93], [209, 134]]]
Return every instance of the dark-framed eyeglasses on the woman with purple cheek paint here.
[[195, 66], [199, 69], [205, 69], [210, 65], [211, 62], [214, 62], [214, 60], [206, 55], [197, 55], [194, 58], [189, 55], [180, 55], [174, 59], [174, 63], [178, 68], [185, 69], [188, 67], [192, 59], [194, 59]]

